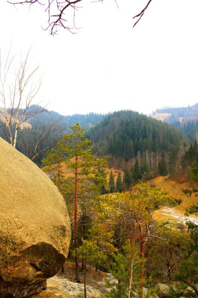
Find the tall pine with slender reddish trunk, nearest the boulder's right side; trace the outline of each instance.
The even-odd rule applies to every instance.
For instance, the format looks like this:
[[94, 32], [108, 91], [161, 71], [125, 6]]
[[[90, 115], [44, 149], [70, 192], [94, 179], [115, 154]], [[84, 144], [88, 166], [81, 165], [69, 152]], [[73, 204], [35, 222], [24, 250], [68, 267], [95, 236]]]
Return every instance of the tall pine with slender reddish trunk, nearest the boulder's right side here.
[[[69, 183], [72, 192], [70, 193], [70, 200], [73, 200], [74, 209], [74, 246], [75, 246], [75, 277], [76, 282], [79, 280], [78, 269], [78, 220], [79, 211], [81, 211], [81, 221], [86, 220], [86, 211], [89, 208], [90, 200], [93, 199], [94, 194], [100, 193], [102, 184], [105, 183], [104, 176], [98, 170], [107, 166], [106, 157], [99, 159], [95, 158], [91, 152], [91, 141], [84, 139], [84, 129], [79, 123], [70, 127], [71, 133], [64, 136], [59, 142], [64, 162], [67, 170], [71, 173]], [[50, 154], [50, 153], [49, 153]], [[48, 159], [48, 156], [47, 158]], [[80, 210], [79, 210], [80, 208]], [[86, 226], [86, 223], [85, 223]], [[85, 232], [84, 228], [84, 232]]]

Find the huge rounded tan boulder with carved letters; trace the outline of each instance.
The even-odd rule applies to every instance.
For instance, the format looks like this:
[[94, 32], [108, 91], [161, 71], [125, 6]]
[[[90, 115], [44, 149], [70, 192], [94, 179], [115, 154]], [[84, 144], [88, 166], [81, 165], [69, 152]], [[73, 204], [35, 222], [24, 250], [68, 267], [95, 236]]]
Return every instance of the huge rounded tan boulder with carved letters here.
[[57, 187], [0, 138], [0, 297], [27, 297], [63, 266], [70, 223]]

